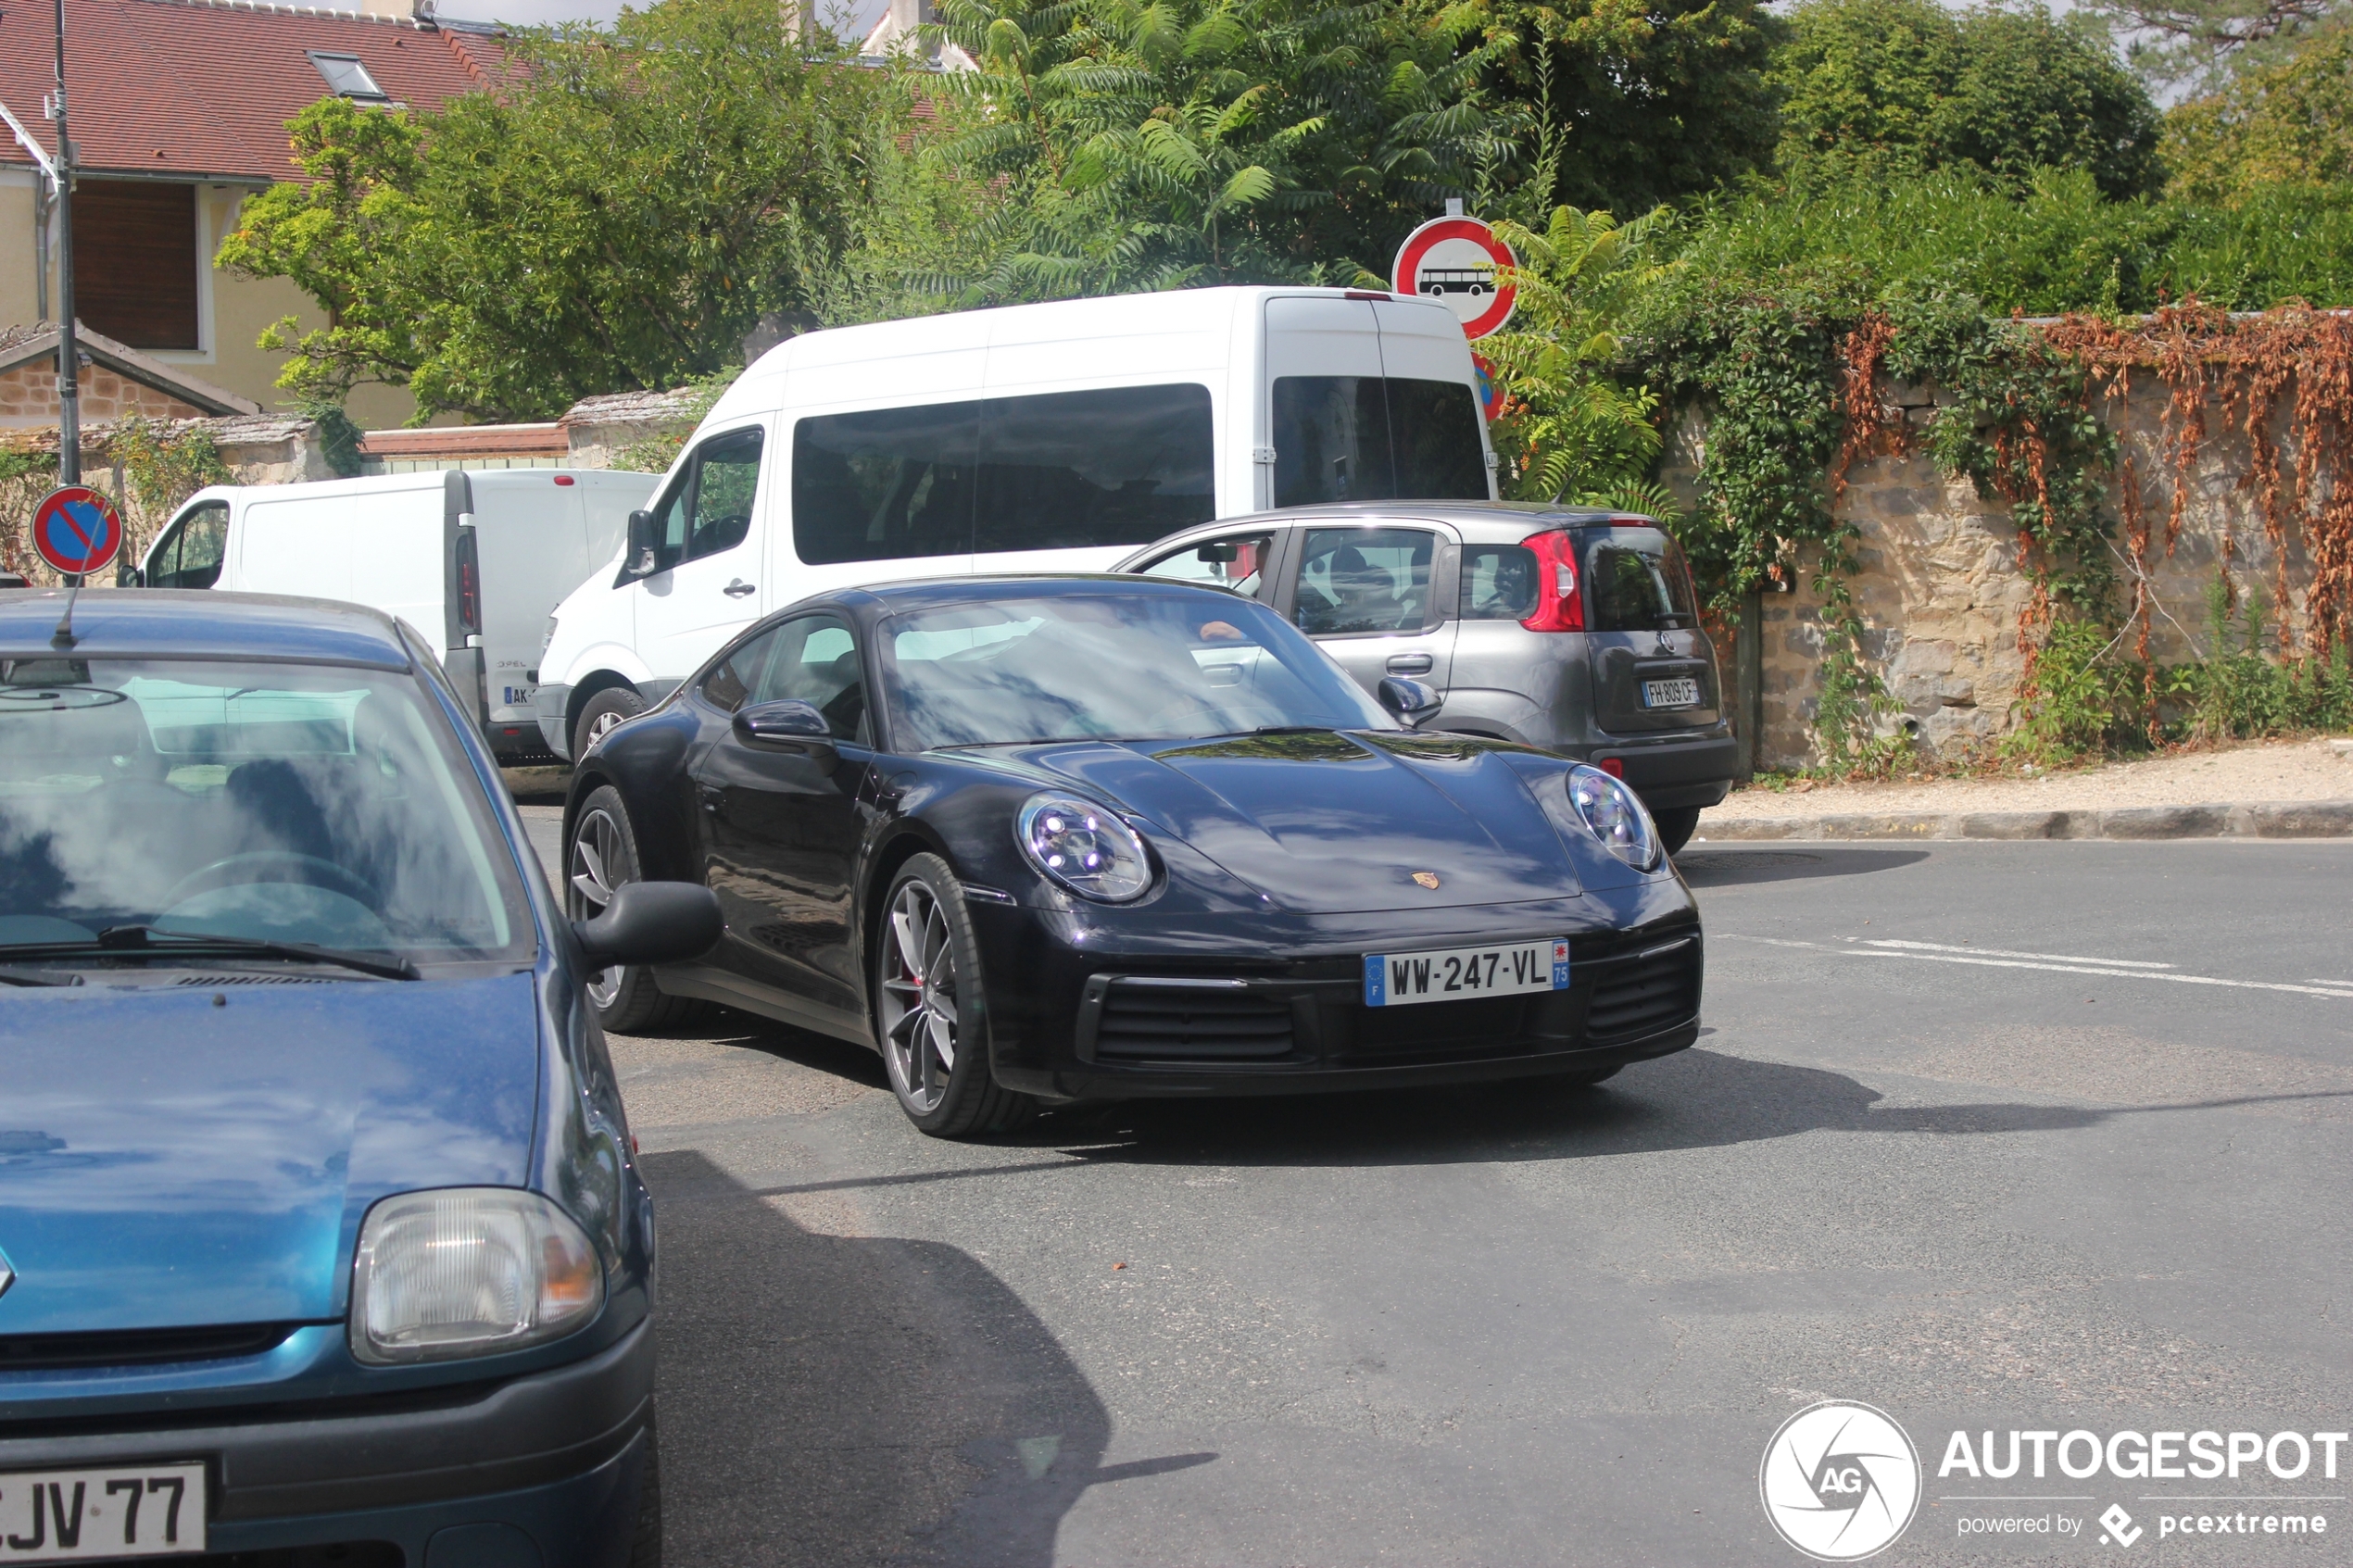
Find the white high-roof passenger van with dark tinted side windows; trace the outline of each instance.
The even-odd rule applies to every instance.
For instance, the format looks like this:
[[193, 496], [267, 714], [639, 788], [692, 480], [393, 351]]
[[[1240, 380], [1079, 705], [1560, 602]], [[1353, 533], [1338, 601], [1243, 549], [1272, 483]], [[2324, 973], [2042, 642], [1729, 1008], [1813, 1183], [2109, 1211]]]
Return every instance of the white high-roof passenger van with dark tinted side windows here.
[[826, 588], [1106, 571], [1238, 512], [1492, 496], [1440, 303], [1186, 289], [812, 331], [727, 388], [621, 557], [555, 611], [539, 729], [574, 757]]

